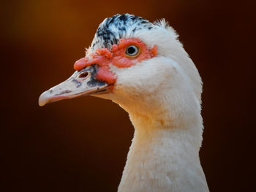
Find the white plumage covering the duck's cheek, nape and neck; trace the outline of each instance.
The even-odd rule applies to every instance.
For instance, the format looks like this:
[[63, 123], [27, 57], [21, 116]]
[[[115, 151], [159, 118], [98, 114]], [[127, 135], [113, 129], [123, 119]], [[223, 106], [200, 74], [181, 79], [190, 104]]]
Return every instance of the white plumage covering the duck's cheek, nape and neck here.
[[[129, 68], [110, 66], [116, 74], [111, 99], [129, 113], [135, 135], [119, 192], [208, 191], [200, 166], [203, 121], [202, 82], [195, 65], [165, 20], [151, 30], [127, 30], [157, 55]], [[113, 29], [114, 30], [114, 29]]]

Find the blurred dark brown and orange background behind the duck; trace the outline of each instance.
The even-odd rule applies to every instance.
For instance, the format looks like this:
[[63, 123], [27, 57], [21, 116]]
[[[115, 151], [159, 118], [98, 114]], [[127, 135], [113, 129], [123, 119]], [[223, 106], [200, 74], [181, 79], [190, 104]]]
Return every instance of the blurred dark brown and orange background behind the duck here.
[[255, 188], [255, 6], [249, 1], [1, 1], [0, 191], [116, 191], [131, 144], [127, 112], [93, 97], [39, 107], [99, 23], [165, 18], [204, 82], [200, 158], [211, 191]]

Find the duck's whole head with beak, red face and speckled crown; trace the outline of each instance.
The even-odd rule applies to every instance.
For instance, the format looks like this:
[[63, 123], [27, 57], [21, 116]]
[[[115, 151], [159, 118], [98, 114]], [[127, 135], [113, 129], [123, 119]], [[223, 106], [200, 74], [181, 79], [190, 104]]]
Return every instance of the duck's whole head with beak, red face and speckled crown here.
[[151, 23], [129, 14], [106, 18], [86, 56], [75, 62], [75, 73], [42, 93], [39, 105], [92, 95], [127, 110], [148, 111], [186, 93], [200, 103], [200, 76], [177, 38], [165, 20]]

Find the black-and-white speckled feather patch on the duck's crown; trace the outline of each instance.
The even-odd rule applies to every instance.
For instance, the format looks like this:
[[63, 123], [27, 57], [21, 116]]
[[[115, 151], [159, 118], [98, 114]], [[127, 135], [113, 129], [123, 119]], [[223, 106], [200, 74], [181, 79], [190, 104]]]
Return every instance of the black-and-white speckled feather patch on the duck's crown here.
[[117, 44], [119, 39], [123, 38], [127, 33], [134, 34], [141, 29], [151, 30], [154, 25], [148, 20], [135, 15], [123, 14], [114, 15], [112, 18], [105, 18], [99, 24], [94, 40], [91, 43], [91, 48], [110, 47]]

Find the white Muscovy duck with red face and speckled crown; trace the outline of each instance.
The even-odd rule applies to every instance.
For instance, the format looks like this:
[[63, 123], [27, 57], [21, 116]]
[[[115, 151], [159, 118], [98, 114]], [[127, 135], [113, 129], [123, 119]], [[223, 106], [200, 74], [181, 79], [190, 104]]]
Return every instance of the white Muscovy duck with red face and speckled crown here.
[[39, 105], [91, 95], [128, 112], [135, 132], [118, 192], [209, 191], [199, 157], [203, 82], [165, 19], [105, 18], [74, 69]]

